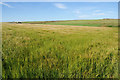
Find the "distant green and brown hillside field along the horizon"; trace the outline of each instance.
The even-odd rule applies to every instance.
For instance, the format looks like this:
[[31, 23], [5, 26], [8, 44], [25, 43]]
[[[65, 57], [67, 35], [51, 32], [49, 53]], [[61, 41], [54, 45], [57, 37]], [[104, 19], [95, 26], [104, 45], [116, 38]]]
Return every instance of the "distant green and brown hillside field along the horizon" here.
[[50, 24], [50, 25], [73, 25], [73, 26], [97, 26], [97, 27], [116, 27], [117, 19], [101, 19], [101, 20], [71, 20], [71, 21], [36, 21], [24, 22], [31, 24]]

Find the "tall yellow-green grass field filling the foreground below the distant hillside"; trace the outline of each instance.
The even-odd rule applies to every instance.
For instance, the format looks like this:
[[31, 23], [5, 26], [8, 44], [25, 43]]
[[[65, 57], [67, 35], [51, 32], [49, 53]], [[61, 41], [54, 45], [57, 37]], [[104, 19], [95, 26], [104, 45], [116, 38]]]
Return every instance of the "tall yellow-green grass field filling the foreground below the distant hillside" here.
[[117, 78], [118, 28], [10, 24], [3, 78]]

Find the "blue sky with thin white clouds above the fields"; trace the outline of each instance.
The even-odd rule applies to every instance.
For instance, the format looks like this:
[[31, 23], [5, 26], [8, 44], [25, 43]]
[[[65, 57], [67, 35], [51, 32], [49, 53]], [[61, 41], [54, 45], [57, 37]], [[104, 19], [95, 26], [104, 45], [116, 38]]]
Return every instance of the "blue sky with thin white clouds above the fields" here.
[[118, 18], [117, 2], [4, 2], [2, 21]]

